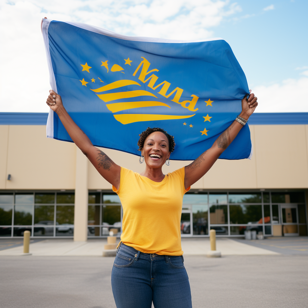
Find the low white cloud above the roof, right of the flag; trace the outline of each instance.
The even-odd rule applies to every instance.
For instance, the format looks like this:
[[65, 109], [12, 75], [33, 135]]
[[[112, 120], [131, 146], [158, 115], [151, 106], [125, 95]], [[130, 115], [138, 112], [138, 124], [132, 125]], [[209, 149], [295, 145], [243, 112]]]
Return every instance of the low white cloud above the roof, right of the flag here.
[[[305, 75], [308, 76], [308, 71]], [[259, 103], [256, 112], [308, 112], [307, 89], [307, 77], [254, 87]]]

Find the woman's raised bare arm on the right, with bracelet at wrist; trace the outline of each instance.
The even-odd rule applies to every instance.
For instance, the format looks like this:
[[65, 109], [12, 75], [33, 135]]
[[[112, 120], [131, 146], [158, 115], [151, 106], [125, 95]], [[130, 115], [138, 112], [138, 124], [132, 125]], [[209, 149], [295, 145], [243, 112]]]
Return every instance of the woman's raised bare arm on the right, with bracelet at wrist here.
[[[240, 117], [248, 120], [249, 116], [253, 114], [253, 111], [256, 109], [257, 105], [257, 97], [255, 97], [253, 93], [250, 94], [248, 100], [246, 99], [245, 95], [245, 97], [242, 99], [242, 112]], [[211, 148], [202, 153], [191, 164], [185, 166], [185, 188], [188, 188], [192, 184], [196, 183], [197, 180], [201, 179], [201, 177], [209, 171], [218, 157], [221, 156], [221, 153], [224, 152], [225, 149], [234, 140], [242, 127], [242, 124], [234, 120], [233, 123], [217, 138]]]

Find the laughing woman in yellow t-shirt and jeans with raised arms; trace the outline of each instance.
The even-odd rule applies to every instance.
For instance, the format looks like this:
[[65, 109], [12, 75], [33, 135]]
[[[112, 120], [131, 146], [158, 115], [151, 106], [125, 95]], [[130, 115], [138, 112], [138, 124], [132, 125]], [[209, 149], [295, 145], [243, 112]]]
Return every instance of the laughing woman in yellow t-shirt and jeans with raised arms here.
[[[50, 90], [47, 104], [55, 111], [71, 139], [110, 183], [123, 206], [121, 242], [111, 274], [118, 308], [192, 307], [188, 276], [181, 250], [182, 201], [192, 184], [213, 166], [257, 107], [252, 93], [242, 99], [236, 120], [193, 163], [164, 175], [174, 140], [161, 128], [148, 128], [138, 141], [145, 170], [141, 174], [115, 164], [75, 124], [60, 95]], [[248, 96], [247, 96], [248, 97]]]

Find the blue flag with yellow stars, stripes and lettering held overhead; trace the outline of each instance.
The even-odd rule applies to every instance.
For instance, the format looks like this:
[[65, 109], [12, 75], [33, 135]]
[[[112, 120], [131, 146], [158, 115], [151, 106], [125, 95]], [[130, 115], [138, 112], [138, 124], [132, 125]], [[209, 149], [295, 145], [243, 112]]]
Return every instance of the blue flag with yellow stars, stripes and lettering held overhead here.
[[[170, 159], [194, 160], [241, 112], [249, 93], [223, 39], [130, 37], [77, 22], [43, 19], [51, 88], [95, 146], [140, 156], [139, 134], [160, 127], [174, 136]], [[72, 142], [49, 111], [47, 137]], [[221, 154], [250, 158], [248, 125]]]

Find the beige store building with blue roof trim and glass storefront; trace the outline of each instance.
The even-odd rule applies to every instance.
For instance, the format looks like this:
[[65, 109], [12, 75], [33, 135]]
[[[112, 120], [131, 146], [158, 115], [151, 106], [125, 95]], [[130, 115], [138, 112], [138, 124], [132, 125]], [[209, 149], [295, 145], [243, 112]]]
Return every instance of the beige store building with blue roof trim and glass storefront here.
[[[46, 138], [45, 113], [0, 113], [0, 237], [121, 233], [118, 196], [75, 144]], [[254, 114], [251, 160], [218, 160], [184, 195], [183, 237], [307, 235], [308, 113]], [[137, 145], [136, 145], [137, 146]], [[139, 157], [104, 149], [142, 172]], [[166, 174], [188, 164], [172, 161]]]

